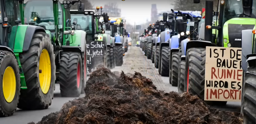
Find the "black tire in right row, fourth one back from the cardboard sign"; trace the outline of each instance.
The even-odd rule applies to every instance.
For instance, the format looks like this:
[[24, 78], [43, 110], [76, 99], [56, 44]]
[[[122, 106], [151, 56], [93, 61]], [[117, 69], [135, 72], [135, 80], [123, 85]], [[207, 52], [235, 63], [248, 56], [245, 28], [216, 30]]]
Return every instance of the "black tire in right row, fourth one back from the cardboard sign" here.
[[169, 46], [162, 47], [162, 55], [161, 55], [161, 64], [160, 65], [160, 74], [163, 77], [169, 77], [169, 70], [170, 70], [170, 48]]

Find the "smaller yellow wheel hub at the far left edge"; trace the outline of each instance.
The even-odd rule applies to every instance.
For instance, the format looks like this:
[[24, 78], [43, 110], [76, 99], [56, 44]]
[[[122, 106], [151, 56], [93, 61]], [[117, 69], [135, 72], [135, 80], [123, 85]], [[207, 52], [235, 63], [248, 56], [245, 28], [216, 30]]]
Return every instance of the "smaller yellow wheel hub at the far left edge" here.
[[3, 93], [7, 102], [12, 102], [16, 92], [16, 77], [12, 67], [7, 67], [3, 76]]

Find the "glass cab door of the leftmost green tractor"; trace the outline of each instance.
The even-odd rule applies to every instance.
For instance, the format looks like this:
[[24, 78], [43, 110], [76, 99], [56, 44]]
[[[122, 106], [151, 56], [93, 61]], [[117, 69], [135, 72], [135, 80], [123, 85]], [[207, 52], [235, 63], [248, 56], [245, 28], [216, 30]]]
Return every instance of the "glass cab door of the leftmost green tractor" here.
[[0, 39], [1, 45], [14, 49], [14, 42], [17, 30], [17, 20], [20, 20], [19, 3], [15, 0], [2, 0], [1, 5], [5, 5], [5, 8], [1, 8], [1, 22], [4, 17], [8, 17], [8, 27], [3, 28], [0, 26]]

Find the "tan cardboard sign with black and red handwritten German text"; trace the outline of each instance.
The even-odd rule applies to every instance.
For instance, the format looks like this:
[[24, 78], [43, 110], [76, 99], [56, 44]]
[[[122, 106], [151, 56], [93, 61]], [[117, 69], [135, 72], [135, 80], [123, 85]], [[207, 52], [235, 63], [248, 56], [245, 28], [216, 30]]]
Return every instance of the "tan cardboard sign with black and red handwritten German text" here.
[[206, 47], [204, 100], [241, 101], [242, 48]]

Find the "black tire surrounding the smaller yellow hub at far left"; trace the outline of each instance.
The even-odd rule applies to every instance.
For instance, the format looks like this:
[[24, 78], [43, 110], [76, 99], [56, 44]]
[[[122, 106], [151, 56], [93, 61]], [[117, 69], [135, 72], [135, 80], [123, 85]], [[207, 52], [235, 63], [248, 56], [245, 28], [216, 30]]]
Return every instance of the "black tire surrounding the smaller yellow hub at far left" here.
[[[13, 68], [14, 73], [15, 73], [15, 78], [16, 78], [16, 92], [15, 92], [13, 100], [10, 103], [5, 100], [4, 94], [3, 94], [3, 75], [5, 72], [5, 69], [8, 66]], [[6, 114], [12, 114], [16, 110], [17, 104], [19, 102], [19, 95], [20, 95], [20, 74], [19, 74], [18, 63], [14, 56], [12, 56], [10, 54], [6, 55], [4, 57], [4, 59], [1, 61], [0, 75], [1, 75], [1, 78], [0, 78], [0, 105]]]

